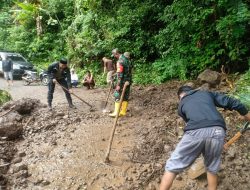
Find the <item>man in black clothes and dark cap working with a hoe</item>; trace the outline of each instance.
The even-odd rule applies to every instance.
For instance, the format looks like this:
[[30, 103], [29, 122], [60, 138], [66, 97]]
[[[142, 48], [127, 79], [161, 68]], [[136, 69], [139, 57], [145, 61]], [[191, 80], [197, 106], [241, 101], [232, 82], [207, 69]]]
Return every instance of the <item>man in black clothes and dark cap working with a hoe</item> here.
[[70, 93], [71, 90], [71, 76], [67, 65], [67, 60], [62, 58], [59, 62], [52, 63], [48, 67], [49, 84], [48, 84], [48, 107], [52, 110], [53, 93], [56, 83], [59, 83], [63, 88], [66, 99], [70, 108], [76, 108], [72, 103]]

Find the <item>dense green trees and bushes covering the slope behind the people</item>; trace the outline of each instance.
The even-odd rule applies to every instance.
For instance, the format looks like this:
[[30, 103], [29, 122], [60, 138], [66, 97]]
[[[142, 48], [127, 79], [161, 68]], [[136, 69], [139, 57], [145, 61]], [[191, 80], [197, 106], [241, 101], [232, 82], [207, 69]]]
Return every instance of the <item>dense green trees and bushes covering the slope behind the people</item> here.
[[0, 49], [36, 65], [61, 56], [101, 69], [113, 48], [130, 51], [134, 82], [196, 77], [250, 63], [248, 0], [2, 0]]

